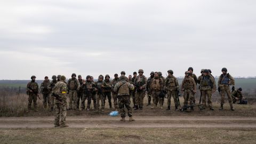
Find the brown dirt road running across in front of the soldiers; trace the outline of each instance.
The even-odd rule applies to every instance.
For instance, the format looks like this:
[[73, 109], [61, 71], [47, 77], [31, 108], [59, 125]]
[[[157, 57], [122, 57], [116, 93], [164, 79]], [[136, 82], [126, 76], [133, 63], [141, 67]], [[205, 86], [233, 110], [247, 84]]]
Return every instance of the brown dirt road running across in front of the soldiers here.
[[[120, 117], [74, 116], [67, 117], [69, 128], [156, 128], [156, 127], [211, 127], [256, 128], [256, 117], [237, 116], [135, 116], [135, 122], [120, 122]], [[126, 117], [128, 120], [129, 117]], [[54, 117], [0, 117], [0, 129], [50, 128]]]

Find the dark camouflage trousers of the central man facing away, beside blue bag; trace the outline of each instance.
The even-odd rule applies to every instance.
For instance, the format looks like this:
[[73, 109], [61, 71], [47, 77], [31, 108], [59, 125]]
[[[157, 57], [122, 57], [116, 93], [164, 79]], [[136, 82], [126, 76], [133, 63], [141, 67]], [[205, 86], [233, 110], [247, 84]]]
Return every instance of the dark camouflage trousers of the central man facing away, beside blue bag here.
[[121, 114], [121, 117], [125, 117], [125, 107], [127, 108], [127, 114], [129, 117], [132, 116], [132, 108], [130, 106], [130, 95], [122, 95], [118, 96], [118, 106], [119, 106], [119, 111]]

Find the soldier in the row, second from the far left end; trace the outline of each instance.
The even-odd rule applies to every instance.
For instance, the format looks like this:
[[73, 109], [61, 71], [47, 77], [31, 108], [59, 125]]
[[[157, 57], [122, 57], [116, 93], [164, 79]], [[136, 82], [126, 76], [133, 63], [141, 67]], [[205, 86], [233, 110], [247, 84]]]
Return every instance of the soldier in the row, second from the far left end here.
[[50, 80], [48, 79], [47, 76], [44, 77], [44, 81], [43, 83], [41, 83], [40, 89], [41, 89], [41, 93], [43, 94], [43, 106], [44, 108], [47, 108], [47, 103], [48, 103], [48, 108], [50, 110], [50, 90], [48, 89], [48, 86], [50, 85]]

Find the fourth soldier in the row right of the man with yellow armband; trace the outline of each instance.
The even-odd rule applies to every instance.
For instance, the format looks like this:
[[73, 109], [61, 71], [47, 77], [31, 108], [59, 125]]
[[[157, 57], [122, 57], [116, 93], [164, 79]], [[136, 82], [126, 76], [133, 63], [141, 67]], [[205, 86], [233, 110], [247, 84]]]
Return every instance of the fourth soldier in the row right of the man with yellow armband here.
[[[100, 101], [101, 101], [101, 111], [104, 111], [105, 108], [105, 96], [103, 94], [103, 90], [102, 90], [102, 85], [103, 85], [103, 76], [100, 75], [98, 78], [98, 82], [95, 83], [95, 86], [97, 88], [97, 94], [96, 94], [96, 107], [97, 110], [100, 110]], [[114, 99], [115, 100], [115, 99]]]

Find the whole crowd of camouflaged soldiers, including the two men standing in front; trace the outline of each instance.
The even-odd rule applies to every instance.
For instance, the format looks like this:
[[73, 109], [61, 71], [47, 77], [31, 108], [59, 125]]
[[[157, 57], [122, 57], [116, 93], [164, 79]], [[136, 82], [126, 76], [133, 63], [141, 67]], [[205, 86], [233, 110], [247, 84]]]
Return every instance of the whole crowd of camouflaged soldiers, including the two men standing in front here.
[[[230, 85], [235, 85], [234, 78], [227, 73], [226, 68], [222, 68], [222, 74], [218, 81], [218, 91], [221, 94], [221, 106], [220, 110], [223, 110], [223, 104], [225, 103], [225, 94], [228, 96], [230, 109], [234, 110], [233, 101], [235, 93], [230, 92]], [[81, 110], [90, 110], [91, 102], [93, 102], [93, 108], [97, 111], [105, 110], [106, 99], [108, 98], [109, 108], [112, 109], [111, 99], [114, 100], [114, 108], [121, 113], [121, 121], [125, 121], [125, 110], [127, 108], [127, 115], [130, 117], [129, 121], [134, 121], [132, 118], [132, 108], [130, 106], [130, 97], [133, 101], [134, 110], [143, 109], [143, 99], [146, 94], [148, 95], [148, 104], [151, 105], [151, 109], [163, 108], [164, 99], [167, 96], [167, 109], [171, 109], [171, 97], [173, 97], [175, 103], [175, 110], [180, 106], [179, 93], [183, 94], [184, 102], [183, 108], [187, 109], [188, 105], [195, 105], [195, 93], [196, 86], [199, 85], [199, 90], [202, 95], [203, 108], [206, 108], [206, 97], [207, 103], [210, 110], [214, 110], [212, 106], [212, 93], [217, 90], [215, 79], [211, 75], [210, 69], [202, 69], [201, 76], [197, 76], [193, 73], [193, 68], [189, 67], [188, 71], [185, 72], [185, 77], [179, 86], [178, 80], [173, 76], [173, 70], [168, 70], [167, 77], [164, 78], [161, 72], [150, 73], [150, 77], [146, 78], [143, 75], [142, 69], [133, 73], [133, 77], [130, 75], [129, 78], [125, 76], [125, 71], [121, 71], [121, 76], [118, 74], [114, 75], [114, 79], [110, 81], [110, 76], [106, 75], [103, 77], [100, 75], [98, 81], [94, 82], [92, 76], [86, 76], [86, 79], [82, 79], [81, 75], [72, 74], [71, 78], [66, 82], [65, 76], [52, 76], [52, 81], [45, 76], [45, 80], [39, 87], [35, 82], [35, 76], [31, 76], [31, 82], [27, 84], [28, 98], [28, 111], [31, 110], [31, 103], [34, 102], [34, 110], [37, 111], [37, 97], [39, 88], [43, 94], [43, 105], [46, 108], [47, 104], [49, 110], [52, 111], [55, 101], [55, 126], [66, 127], [66, 110], [79, 110], [79, 103], [81, 100]], [[181, 88], [180, 88], [181, 87]], [[235, 90], [236, 95], [241, 94], [242, 89]], [[242, 95], [242, 94], [241, 94]], [[67, 97], [69, 98], [69, 107], [67, 108]], [[87, 100], [87, 106], [85, 101]], [[151, 100], [153, 103], [151, 104]], [[236, 99], [237, 100], [237, 99]], [[101, 101], [101, 102], [100, 102]], [[86, 106], [86, 107], [85, 107]], [[194, 110], [190, 107], [190, 110]]]

